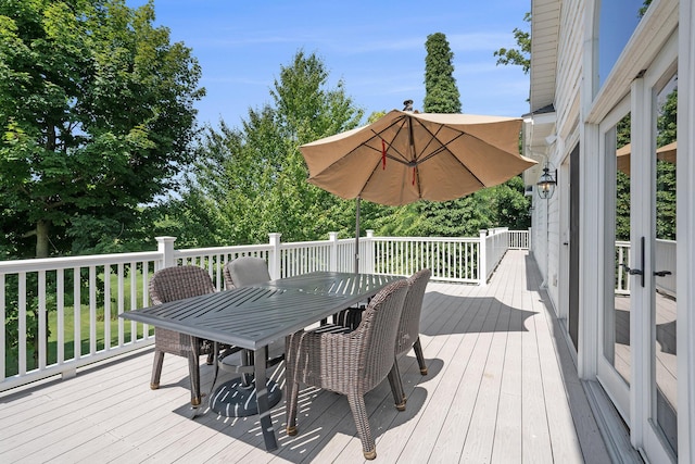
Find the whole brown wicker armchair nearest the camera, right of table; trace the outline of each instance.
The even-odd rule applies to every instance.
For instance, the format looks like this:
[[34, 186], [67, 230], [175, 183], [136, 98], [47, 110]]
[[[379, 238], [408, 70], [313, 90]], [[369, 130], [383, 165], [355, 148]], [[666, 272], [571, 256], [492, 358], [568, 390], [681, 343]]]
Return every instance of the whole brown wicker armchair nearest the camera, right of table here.
[[287, 434], [296, 435], [299, 385], [345, 394], [365, 459], [377, 456], [364, 396], [391, 372], [395, 338], [408, 284], [396, 280], [379, 291], [359, 326], [346, 334], [300, 330], [287, 338]]

